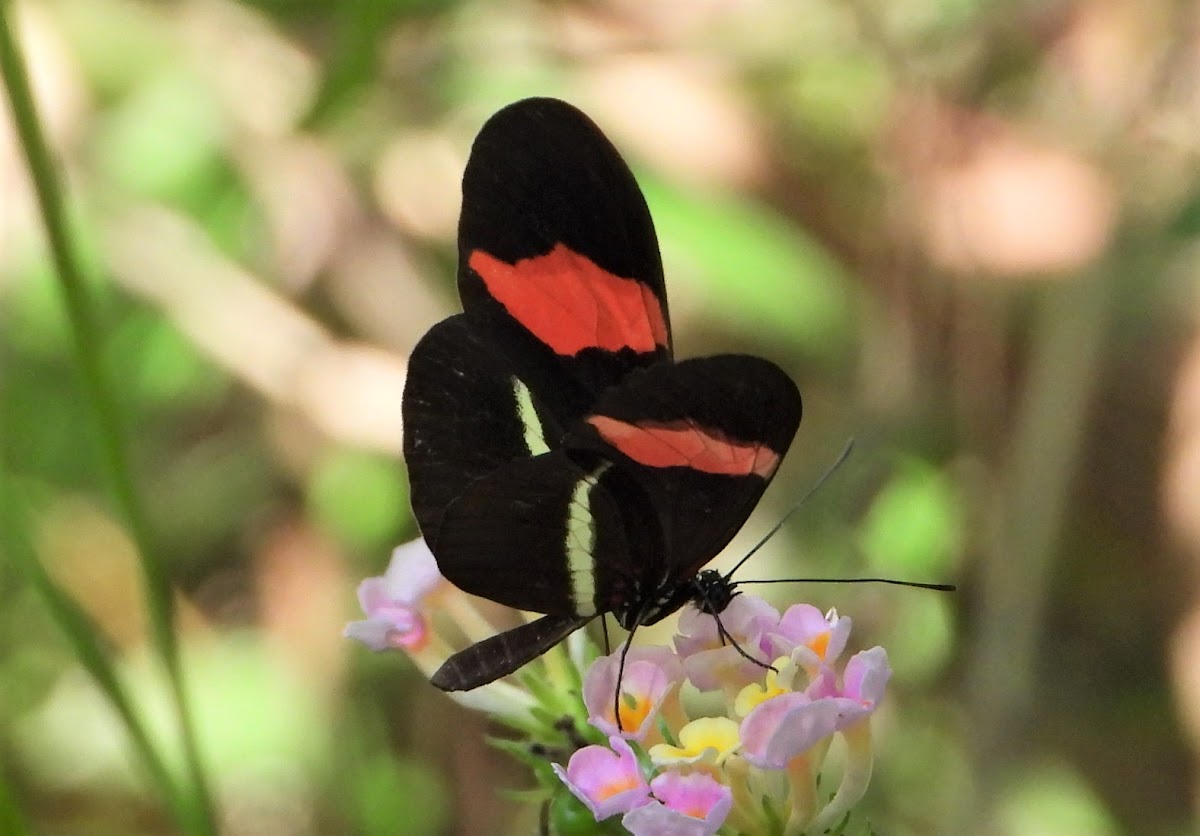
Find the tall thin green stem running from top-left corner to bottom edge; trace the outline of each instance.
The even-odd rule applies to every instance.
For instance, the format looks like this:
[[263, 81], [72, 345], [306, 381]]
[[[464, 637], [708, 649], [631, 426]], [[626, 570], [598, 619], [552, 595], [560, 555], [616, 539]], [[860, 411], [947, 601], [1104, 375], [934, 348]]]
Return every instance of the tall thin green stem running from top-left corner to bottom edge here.
[[7, 0], [0, 0], [0, 73], [4, 74], [5, 90], [12, 107], [13, 125], [25, 152], [34, 188], [37, 193], [50, 257], [71, 321], [76, 362], [83, 379], [91, 417], [96, 422], [101, 440], [109, 489], [138, 549], [146, 611], [150, 617], [151, 640], [167, 672], [191, 783], [188, 808], [184, 811], [187, 830], [194, 834], [212, 834], [216, 831], [216, 825], [211, 796], [200, 763], [196, 730], [184, 687], [179, 644], [174, 631], [173, 590], [163, 565], [154, 558], [150, 525], [134, 488], [116, 398], [101, 360], [103, 357], [101, 331], [91, 300], [84, 287], [82, 270], [71, 246], [56, 169], [34, 107], [25, 62], [12, 32], [8, 19], [10, 7], [11, 4]]

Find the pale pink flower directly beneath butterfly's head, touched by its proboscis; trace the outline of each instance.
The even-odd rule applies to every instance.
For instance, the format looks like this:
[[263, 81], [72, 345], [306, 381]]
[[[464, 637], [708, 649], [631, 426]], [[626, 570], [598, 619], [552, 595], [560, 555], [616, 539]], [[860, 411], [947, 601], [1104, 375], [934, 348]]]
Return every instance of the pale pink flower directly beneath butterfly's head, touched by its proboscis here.
[[763, 667], [738, 652], [730, 639], [750, 656], [769, 663], [773, 656], [764, 637], [778, 624], [778, 609], [754, 595], [738, 595], [721, 613], [721, 625], [728, 634], [722, 643], [716, 619], [698, 609], [685, 609], [679, 615], [679, 634], [674, 643], [684, 658], [688, 679], [701, 691], [722, 686], [740, 688], [760, 679]]

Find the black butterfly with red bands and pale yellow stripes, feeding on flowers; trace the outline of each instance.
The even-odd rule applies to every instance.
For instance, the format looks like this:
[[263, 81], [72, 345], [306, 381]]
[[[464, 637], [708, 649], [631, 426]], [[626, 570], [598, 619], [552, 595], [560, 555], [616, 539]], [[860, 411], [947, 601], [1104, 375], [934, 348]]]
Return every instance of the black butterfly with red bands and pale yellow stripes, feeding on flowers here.
[[724, 609], [732, 584], [703, 566], [800, 422], [775, 363], [674, 359], [646, 199], [575, 107], [496, 113], [462, 197], [463, 312], [420, 339], [404, 385], [413, 512], [451, 583], [542, 617], [451, 656], [432, 678], [446, 691], [605, 614], [632, 631], [689, 601]]

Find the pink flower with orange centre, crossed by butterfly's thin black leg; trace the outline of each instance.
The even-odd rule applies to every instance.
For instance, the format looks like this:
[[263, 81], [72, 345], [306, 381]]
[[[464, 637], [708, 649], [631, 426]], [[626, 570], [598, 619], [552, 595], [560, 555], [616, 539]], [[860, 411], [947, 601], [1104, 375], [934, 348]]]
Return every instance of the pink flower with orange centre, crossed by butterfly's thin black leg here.
[[683, 680], [683, 666], [670, 648], [630, 648], [620, 676], [620, 728], [614, 715], [619, 673], [620, 650], [588, 669], [583, 680], [588, 721], [606, 735], [644, 740], [664, 700]]

